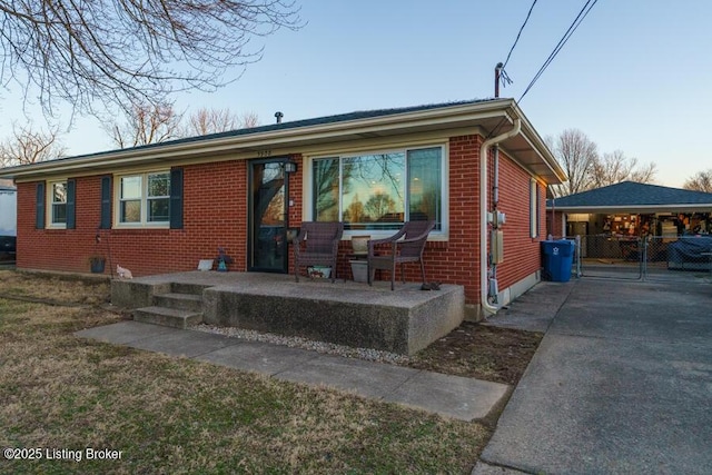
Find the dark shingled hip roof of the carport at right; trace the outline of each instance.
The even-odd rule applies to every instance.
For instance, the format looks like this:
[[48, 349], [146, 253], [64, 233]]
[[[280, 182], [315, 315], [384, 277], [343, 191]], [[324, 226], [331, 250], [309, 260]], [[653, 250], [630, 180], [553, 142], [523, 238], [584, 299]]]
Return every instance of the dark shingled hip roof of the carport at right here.
[[712, 194], [623, 181], [546, 201], [547, 209], [570, 212], [712, 211]]

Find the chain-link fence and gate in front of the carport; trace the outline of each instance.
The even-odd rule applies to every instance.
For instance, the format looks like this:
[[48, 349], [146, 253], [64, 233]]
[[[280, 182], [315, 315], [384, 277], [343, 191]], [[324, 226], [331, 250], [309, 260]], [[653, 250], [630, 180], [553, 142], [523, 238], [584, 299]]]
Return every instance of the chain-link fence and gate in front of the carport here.
[[712, 283], [712, 236], [616, 238], [566, 236], [574, 277]]

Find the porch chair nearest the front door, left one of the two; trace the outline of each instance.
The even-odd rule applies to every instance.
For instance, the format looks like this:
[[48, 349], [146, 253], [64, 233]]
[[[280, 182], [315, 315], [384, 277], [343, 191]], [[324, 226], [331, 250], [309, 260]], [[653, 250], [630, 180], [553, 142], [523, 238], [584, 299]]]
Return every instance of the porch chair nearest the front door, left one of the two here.
[[299, 281], [299, 268], [304, 266], [332, 267], [332, 283], [336, 280], [338, 243], [344, 234], [343, 222], [301, 222], [294, 238], [294, 276]]

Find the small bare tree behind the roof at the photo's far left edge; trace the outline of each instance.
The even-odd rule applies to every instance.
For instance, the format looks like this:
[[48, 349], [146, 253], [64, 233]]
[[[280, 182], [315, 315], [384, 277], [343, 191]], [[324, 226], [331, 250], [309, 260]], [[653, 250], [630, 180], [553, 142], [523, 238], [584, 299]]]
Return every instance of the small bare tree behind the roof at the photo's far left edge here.
[[59, 128], [34, 131], [32, 125], [12, 125], [12, 136], [0, 144], [0, 168], [53, 160], [65, 155], [58, 138]]

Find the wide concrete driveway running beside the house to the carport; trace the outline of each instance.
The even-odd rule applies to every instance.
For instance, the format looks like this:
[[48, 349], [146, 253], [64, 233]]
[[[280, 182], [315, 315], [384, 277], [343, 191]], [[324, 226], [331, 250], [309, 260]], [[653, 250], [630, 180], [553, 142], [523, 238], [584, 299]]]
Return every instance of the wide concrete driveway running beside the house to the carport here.
[[712, 285], [540, 286], [553, 319], [474, 474], [711, 474]]

